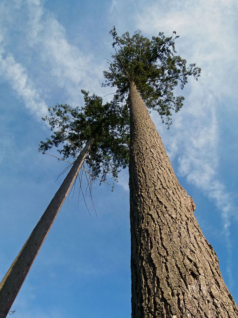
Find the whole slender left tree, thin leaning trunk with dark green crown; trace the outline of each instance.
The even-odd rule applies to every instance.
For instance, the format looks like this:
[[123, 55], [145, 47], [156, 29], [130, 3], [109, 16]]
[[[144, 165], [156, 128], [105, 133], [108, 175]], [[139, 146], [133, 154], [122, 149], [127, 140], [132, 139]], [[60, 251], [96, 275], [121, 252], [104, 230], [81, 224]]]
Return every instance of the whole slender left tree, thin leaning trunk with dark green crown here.
[[84, 161], [91, 180], [100, 176], [101, 182], [109, 173], [117, 179], [119, 167], [128, 164], [128, 117], [122, 116], [118, 102], [103, 105], [101, 97], [89, 97], [88, 92], [82, 92], [85, 107], [56, 105], [49, 109], [51, 117], [44, 118], [51, 130], [56, 131], [51, 139], [41, 142], [39, 150], [45, 153], [53, 146], [62, 145], [58, 148], [62, 159], [73, 158], [74, 163], [0, 284], [0, 318], [8, 315]]

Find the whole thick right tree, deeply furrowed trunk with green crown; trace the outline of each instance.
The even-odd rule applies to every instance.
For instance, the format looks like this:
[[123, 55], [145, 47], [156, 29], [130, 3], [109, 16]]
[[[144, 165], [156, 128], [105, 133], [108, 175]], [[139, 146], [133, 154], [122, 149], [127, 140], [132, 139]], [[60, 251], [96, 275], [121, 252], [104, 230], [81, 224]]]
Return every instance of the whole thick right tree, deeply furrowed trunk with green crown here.
[[[104, 85], [127, 98], [130, 116], [129, 189], [132, 318], [238, 317], [218, 259], [195, 219], [195, 204], [179, 184], [147, 107], [172, 123], [184, 97], [180, 82], [200, 76], [176, 55], [175, 31], [151, 40], [110, 31], [115, 54]], [[128, 95], [129, 93], [129, 95]], [[128, 96], [128, 97], [127, 97]]]

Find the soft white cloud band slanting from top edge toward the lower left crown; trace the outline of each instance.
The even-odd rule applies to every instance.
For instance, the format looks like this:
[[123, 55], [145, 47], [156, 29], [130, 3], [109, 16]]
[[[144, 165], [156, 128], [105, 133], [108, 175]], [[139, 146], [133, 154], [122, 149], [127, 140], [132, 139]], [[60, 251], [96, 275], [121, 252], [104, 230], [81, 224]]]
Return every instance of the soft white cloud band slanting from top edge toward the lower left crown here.
[[94, 65], [90, 52], [82, 53], [69, 43], [65, 28], [52, 13], [44, 10], [42, 1], [28, 0], [28, 26], [25, 32], [29, 45], [37, 48], [52, 80], [65, 88], [69, 98], [78, 101], [81, 88], [98, 91], [103, 66]]

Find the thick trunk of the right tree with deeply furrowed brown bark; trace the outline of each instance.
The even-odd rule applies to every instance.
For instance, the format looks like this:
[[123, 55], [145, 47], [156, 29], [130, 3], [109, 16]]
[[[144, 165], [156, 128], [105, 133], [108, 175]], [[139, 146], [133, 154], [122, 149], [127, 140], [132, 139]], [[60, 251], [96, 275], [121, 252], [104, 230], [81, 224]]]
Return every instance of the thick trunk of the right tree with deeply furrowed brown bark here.
[[237, 318], [192, 197], [133, 85], [129, 103], [132, 318]]

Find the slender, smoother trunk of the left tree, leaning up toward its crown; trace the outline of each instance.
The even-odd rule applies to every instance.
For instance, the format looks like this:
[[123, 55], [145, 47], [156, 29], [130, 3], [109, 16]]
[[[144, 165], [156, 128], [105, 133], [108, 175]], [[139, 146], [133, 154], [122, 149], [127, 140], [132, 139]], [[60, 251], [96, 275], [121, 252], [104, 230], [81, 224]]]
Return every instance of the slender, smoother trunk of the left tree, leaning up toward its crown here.
[[76, 179], [83, 161], [93, 142], [91, 138], [77, 157], [63, 183], [30, 234], [17, 258], [12, 263], [0, 284], [0, 318], [5, 318], [17, 297], [20, 288], [38, 254], [50, 228]]

